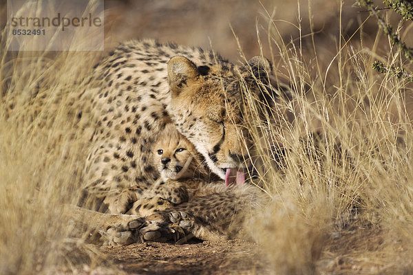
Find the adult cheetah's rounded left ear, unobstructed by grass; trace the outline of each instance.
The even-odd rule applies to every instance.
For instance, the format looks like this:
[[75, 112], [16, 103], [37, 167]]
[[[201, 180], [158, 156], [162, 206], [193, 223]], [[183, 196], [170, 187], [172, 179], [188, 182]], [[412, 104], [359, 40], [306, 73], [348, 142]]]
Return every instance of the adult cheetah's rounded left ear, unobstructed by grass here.
[[178, 96], [187, 81], [199, 75], [198, 69], [192, 61], [183, 56], [175, 56], [168, 62], [168, 81], [172, 95]]

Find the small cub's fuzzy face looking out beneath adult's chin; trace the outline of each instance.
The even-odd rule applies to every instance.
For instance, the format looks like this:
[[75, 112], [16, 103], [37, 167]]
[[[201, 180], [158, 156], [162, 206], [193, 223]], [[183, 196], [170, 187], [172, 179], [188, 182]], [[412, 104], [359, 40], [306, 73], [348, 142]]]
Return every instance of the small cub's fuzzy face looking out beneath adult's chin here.
[[193, 144], [173, 124], [165, 126], [153, 145], [153, 161], [163, 179], [193, 177], [195, 170], [202, 167]]

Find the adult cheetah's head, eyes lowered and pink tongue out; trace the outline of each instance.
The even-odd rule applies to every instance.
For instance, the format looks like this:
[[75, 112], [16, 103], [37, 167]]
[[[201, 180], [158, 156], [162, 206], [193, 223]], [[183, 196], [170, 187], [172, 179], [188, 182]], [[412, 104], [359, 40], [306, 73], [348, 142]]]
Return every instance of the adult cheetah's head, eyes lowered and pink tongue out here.
[[226, 185], [243, 184], [245, 169], [251, 166], [253, 142], [248, 134], [244, 94], [262, 98], [270, 75], [271, 65], [261, 57], [243, 66], [225, 61], [197, 66], [183, 56], [168, 63], [169, 113], [180, 133]]

